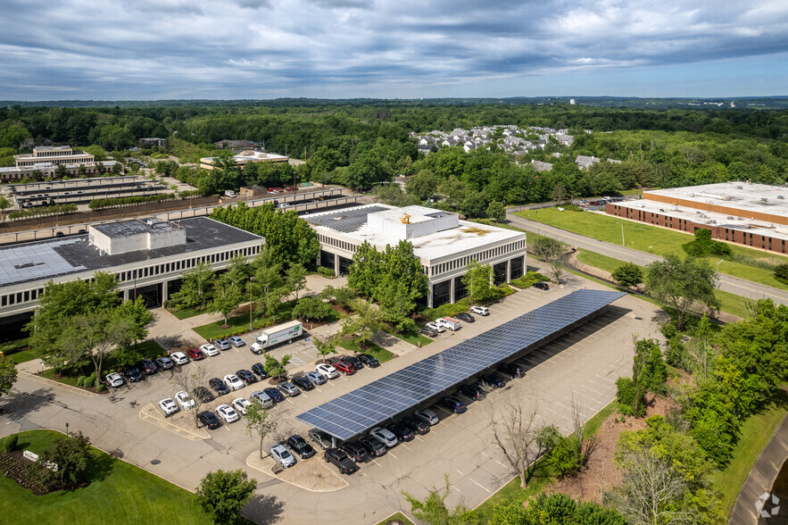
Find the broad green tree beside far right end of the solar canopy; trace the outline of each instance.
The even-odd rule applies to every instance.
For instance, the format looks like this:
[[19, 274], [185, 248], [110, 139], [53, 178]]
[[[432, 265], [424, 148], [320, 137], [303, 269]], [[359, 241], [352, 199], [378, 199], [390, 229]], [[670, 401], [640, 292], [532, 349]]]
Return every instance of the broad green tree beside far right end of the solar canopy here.
[[719, 309], [719, 300], [714, 295], [716, 287], [717, 272], [703, 259], [687, 256], [682, 261], [668, 254], [664, 261], [651, 262], [648, 266], [646, 293], [676, 309], [679, 330], [684, 330], [684, 316], [694, 303], [710, 310]]

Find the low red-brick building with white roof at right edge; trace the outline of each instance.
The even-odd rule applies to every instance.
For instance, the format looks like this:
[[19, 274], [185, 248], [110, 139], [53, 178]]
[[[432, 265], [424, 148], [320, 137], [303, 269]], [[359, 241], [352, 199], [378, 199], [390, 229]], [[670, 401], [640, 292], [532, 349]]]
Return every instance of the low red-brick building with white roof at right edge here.
[[723, 182], [644, 191], [643, 199], [610, 203], [616, 217], [694, 233], [742, 246], [785, 254], [788, 241], [788, 187]]

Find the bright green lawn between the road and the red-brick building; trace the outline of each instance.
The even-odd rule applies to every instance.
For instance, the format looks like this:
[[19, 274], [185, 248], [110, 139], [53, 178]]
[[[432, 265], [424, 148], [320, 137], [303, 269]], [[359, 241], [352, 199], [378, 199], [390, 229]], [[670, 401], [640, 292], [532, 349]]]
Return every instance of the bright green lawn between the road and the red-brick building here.
[[[543, 208], [541, 210], [528, 210], [518, 212], [518, 216], [532, 221], [543, 222], [552, 226], [567, 229], [586, 237], [592, 237], [614, 244], [621, 243], [621, 224], [624, 225], [624, 240], [626, 247], [635, 248], [650, 254], [677, 254], [684, 257], [682, 245], [693, 240], [693, 236], [669, 229], [657, 228], [649, 224], [635, 221], [626, 221], [610, 215], [601, 215], [593, 212], [559, 212], [556, 208]], [[531, 237], [533, 234], [528, 234]], [[788, 262], [785, 258], [777, 254], [767, 254], [729, 244], [734, 254], [752, 259], [759, 259], [775, 264]], [[707, 257], [707, 261], [712, 267], [716, 267], [717, 261], [714, 257]], [[719, 271], [741, 279], [759, 282], [770, 287], [788, 289], [788, 285], [779, 282], [771, 271], [751, 266], [742, 262], [725, 261], [720, 262]]]

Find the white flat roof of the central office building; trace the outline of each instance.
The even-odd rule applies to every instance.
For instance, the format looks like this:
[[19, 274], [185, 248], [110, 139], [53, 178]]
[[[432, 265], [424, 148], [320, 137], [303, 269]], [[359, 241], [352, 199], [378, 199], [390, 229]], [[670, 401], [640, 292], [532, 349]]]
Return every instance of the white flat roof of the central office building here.
[[[419, 206], [420, 207], [420, 206]], [[312, 213], [303, 216], [315, 230], [330, 235], [328, 230], [340, 232], [344, 237], [354, 239], [361, 244], [368, 241], [378, 249], [385, 249], [386, 245], [396, 246], [401, 240], [408, 240], [413, 245], [413, 253], [424, 260], [432, 260], [450, 254], [457, 254], [466, 250], [481, 248], [482, 246], [500, 244], [517, 238], [525, 237], [525, 233], [511, 229], [497, 228], [477, 222], [460, 221], [460, 226], [444, 229], [421, 237], [402, 239], [393, 235], [386, 235], [372, 229], [367, 223], [367, 214], [395, 210], [394, 215], [401, 216], [408, 208], [397, 208], [388, 204], [367, 204], [345, 208], [339, 212]], [[435, 213], [442, 210], [424, 208]]]

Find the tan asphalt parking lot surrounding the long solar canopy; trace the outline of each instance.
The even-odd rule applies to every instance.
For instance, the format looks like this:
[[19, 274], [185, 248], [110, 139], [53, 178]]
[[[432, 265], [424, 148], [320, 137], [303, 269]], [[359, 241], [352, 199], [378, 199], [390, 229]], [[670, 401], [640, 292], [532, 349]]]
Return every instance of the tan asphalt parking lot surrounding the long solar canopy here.
[[[506, 297], [490, 307], [490, 316], [477, 316], [476, 322], [463, 323], [460, 330], [440, 334], [434, 343], [377, 369], [362, 369], [353, 376], [340, 376], [315, 390], [286, 398], [277, 407], [283, 412], [283, 429], [306, 437], [309, 428], [294, 421], [295, 414], [518, 317], [578, 287], [597, 287], [580, 278], [570, 279], [563, 289], [528, 288]], [[526, 377], [510, 380], [506, 387], [495, 390], [481, 401], [464, 397], [468, 412], [457, 415], [432, 406], [441, 421], [426, 435], [394, 446], [382, 457], [361, 463], [360, 471], [341, 477], [348, 486], [332, 492], [312, 492], [289, 482], [286, 476], [280, 479], [270, 475], [270, 471], [257, 470], [259, 465], [247, 466], [253, 465], [249, 458], [256, 454], [257, 444], [245, 434], [243, 418], [219, 429], [197, 430], [191, 414], [183, 411], [171, 420], [161, 418], [175, 428], [143, 417], [145, 406], [152, 405], [158, 411], [158, 402], [163, 397], [175, 395], [179, 388], [173, 381], [178, 374], [203, 366], [208, 371], [207, 378], [223, 378], [239, 369], [250, 369], [253, 362], [264, 362], [264, 356], [249, 351], [252, 337], [248, 336], [245, 337], [247, 346], [224, 351], [199, 363], [191, 362], [174, 371], [160, 371], [145, 381], [114, 389], [110, 396], [78, 396], [61, 387], [43, 387], [40, 381], [21, 377], [16, 388], [25, 395], [6, 396], [0, 400], [0, 406], [6, 410], [0, 416], [0, 421], [6, 424], [0, 428], [4, 433], [36, 426], [63, 429], [64, 423], [70, 422], [71, 429], [86, 432], [96, 445], [110, 451], [118, 450], [124, 459], [189, 488], [195, 487], [207, 471], [246, 468], [258, 479], [261, 494], [266, 496], [247, 509], [256, 519], [278, 515], [280, 522], [315, 521], [325, 517], [325, 509], [331, 509], [332, 521], [376, 522], [404, 508], [402, 490], [424, 496], [433, 485], [442, 485], [444, 474], [448, 474], [452, 485], [447, 503], [475, 506], [513, 476], [501, 451], [493, 444], [489, 417], [494, 405], [508, 397], [521, 404], [537, 404], [541, 421], [555, 423], [568, 432], [572, 426], [573, 403], [587, 418], [615, 397], [615, 380], [619, 375], [631, 373], [632, 334], [659, 337], [657, 325], [653, 323], [657, 314], [651, 304], [635, 298], [618, 300], [608, 312], [518, 359], [526, 369]], [[288, 373], [312, 370], [316, 353], [308, 337], [305, 335], [292, 345], [275, 347], [270, 354], [277, 358], [286, 353], [294, 355], [294, 361], [287, 367]], [[236, 396], [248, 397], [253, 390], [262, 389], [261, 383], [269, 387], [268, 382], [261, 381], [220, 396], [206, 406], [213, 409], [217, 404], [231, 402]], [[321, 454], [303, 463], [310, 462], [319, 463], [320, 467], [326, 465]], [[262, 463], [265, 464], [273, 462]], [[333, 465], [330, 468], [336, 471]], [[272, 505], [278, 509], [278, 514], [271, 513]]]

